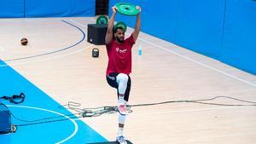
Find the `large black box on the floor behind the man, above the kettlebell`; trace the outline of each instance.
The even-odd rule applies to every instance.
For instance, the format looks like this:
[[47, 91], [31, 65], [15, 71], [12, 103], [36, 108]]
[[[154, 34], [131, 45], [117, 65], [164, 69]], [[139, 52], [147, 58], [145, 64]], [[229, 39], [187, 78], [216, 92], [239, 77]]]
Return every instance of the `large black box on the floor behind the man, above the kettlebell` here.
[[108, 30], [106, 24], [88, 24], [87, 26], [87, 42], [96, 45], [105, 44], [105, 36]]

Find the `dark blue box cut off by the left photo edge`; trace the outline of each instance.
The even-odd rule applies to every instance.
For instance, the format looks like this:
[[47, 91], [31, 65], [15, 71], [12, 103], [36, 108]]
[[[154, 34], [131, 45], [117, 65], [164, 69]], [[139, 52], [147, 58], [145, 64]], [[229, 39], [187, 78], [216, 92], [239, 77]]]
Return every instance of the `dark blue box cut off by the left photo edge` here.
[[0, 102], [0, 134], [12, 131], [9, 109]]

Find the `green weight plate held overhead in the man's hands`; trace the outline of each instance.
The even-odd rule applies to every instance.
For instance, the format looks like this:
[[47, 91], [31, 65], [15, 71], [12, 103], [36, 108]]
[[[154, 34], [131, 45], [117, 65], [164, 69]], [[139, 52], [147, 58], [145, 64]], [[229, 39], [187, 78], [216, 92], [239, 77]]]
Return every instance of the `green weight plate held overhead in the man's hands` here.
[[136, 9], [135, 5], [130, 3], [116, 3], [115, 7], [120, 14], [129, 16], [137, 15], [140, 12], [139, 9]]

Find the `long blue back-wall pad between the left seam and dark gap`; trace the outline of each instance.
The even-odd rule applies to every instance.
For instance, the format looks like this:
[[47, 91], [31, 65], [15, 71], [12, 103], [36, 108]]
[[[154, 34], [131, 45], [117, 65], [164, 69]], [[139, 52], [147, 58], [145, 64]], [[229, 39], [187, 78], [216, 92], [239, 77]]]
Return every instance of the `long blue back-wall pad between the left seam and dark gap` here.
[[95, 0], [26, 0], [26, 17], [94, 16]]

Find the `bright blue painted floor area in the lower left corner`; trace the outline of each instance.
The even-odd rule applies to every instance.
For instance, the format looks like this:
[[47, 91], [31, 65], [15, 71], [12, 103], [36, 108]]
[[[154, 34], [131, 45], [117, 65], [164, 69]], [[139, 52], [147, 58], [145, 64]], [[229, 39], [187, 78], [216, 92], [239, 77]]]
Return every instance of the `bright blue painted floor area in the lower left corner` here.
[[[0, 64], [4, 65], [4, 62], [0, 60]], [[10, 66], [0, 67], [0, 79], [1, 96], [19, 95], [20, 92], [26, 95], [21, 104], [2, 100], [15, 116], [12, 116], [12, 124], [18, 125], [18, 129], [15, 133], [0, 135], [1, 144], [84, 144], [107, 141], [67, 109], [60, 108], [60, 104], [50, 95], [45, 94]], [[49, 119], [35, 121], [42, 118]], [[59, 121], [50, 122], [55, 120]]]

